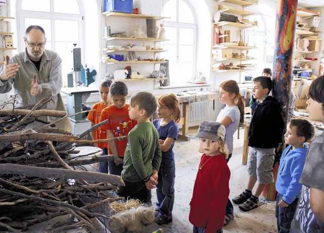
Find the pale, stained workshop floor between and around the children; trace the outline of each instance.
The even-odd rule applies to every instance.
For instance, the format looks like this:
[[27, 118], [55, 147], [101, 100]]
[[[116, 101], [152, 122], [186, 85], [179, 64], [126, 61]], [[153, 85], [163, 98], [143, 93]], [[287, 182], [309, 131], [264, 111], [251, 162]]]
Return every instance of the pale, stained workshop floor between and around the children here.
[[[188, 220], [189, 202], [192, 196], [192, 189], [196, 177], [201, 153], [198, 152], [198, 139], [194, 138], [197, 127], [190, 128], [189, 135], [192, 136], [189, 142], [177, 140], [174, 146], [176, 160], [176, 183], [175, 203], [173, 210], [173, 221], [164, 225], [153, 223], [145, 228], [143, 232], [153, 232], [163, 228], [164, 232], [184, 233], [192, 232], [192, 224]], [[244, 129], [240, 129], [240, 138], [237, 139], [237, 131], [234, 134], [233, 155], [228, 162], [231, 170], [230, 199], [240, 194], [247, 184], [247, 166], [242, 165], [242, 146]], [[152, 203], [156, 201], [155, 191], [152, 191]], [[277, 232], [276, 218], [274, 214], [275, 202], [260, 201], [260, 207], [249, 212], [242, 212], [234, 205], [234, 220], [224, 226], [225, 232]]]

